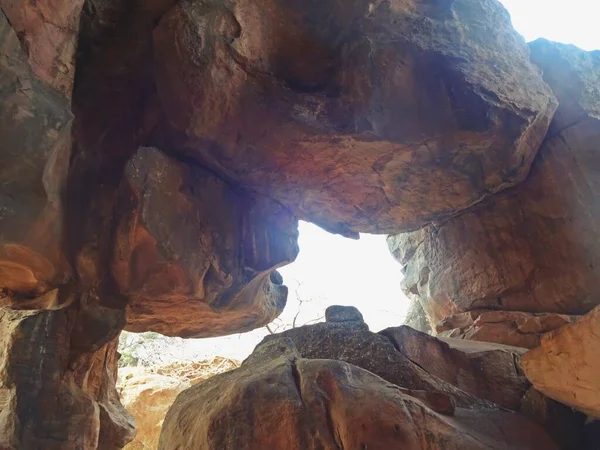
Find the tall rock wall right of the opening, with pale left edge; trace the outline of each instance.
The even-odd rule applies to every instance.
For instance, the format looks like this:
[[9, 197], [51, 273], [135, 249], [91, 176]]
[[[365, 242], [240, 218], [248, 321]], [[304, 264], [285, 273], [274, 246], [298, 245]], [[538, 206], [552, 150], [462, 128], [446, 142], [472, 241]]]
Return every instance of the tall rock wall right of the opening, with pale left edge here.
[[582, 314], [600, 299], [600, 53], [531, 48], [561, 106], [527, 180], [388, 240], [434, 324], [472, 309]]

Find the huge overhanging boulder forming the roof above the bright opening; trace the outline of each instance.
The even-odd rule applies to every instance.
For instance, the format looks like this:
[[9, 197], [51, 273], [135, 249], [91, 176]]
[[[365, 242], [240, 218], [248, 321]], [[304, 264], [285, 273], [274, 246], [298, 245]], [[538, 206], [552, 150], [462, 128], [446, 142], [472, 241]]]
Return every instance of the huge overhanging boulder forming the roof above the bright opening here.
[[154, 42], [179, 151], [348, 236], [518, 183], [556, 108], [493, 0], [188, 0]]

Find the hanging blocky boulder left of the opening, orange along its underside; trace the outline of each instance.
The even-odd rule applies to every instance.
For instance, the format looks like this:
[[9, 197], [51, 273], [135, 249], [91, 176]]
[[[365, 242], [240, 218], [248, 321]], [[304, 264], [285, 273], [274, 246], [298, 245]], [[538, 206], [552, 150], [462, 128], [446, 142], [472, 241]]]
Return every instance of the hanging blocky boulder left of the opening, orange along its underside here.
[[129, 330], [216, 336], [281, 313], [287, 288], [273, 270], [298, 253], [281, 205], [153, 148], [129, 162], [120, 195], [112, 273]]

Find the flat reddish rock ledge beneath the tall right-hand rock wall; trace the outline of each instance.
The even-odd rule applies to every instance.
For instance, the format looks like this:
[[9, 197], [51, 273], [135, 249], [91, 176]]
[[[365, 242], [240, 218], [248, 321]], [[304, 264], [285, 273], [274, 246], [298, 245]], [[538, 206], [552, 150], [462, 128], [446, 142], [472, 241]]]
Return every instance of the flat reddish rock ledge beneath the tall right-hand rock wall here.
[[540, 345], [545, 333], [571, 323], [576, 317], [556, 313], [475, 310], [445, 318], [436, 330], [438, 337], [534, 348]]

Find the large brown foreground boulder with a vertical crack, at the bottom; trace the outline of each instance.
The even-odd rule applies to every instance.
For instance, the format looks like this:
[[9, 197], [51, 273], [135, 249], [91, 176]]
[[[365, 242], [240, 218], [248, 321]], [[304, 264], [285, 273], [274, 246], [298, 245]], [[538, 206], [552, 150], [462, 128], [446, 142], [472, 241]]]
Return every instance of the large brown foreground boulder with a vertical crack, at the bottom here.
[[303, 359], [289, 339], [264, 343], [239, 369], [179, 394], [158, 448], [558, 449], [523, 416], [445, 416], [366, 370]]

